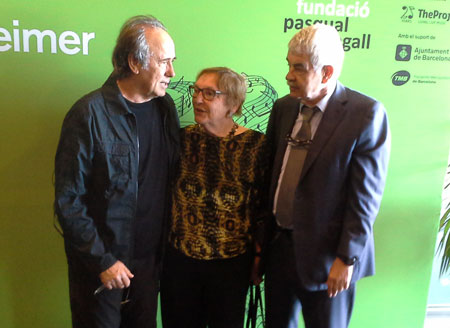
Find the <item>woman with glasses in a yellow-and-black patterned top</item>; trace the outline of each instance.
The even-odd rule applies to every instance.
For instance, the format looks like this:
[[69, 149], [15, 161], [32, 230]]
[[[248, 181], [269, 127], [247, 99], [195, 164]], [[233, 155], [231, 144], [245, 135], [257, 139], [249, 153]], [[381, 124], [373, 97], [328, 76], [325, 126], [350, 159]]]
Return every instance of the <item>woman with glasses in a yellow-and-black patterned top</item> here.
[[241, 328], [249, 282], [261, 282], [268, 152], [262, 133], [233, 120], [246, 90], [244, 77], [226, 67], [202, 70], [190, 87], [197, 124], [181, 131], [161, 283], [164, 328]]

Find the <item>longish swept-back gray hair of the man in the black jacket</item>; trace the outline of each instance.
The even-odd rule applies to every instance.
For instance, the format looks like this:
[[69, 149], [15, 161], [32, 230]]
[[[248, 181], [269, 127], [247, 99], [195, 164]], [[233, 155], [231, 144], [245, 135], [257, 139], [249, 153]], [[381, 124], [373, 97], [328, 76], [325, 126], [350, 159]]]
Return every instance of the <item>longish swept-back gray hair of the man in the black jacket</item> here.
[[163, 23], [151, 15], [131, 17], [120, 29], [112, 55], [114, 72], [118, 79], [126, 78], [131, 74], [131, 69], [128, 65], [128, 56], [130, 54], [144, 69], [148, 68], [149, 60], [153, 53], [145, 37], [147, 28], [160, 28], [167, 31]]

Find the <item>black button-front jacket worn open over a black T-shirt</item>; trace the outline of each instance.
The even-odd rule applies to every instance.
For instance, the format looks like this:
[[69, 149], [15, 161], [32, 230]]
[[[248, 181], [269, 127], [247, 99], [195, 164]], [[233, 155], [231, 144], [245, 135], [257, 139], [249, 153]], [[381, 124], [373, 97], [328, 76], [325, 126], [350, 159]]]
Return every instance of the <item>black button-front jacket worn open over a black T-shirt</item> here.
[[[172, 98], [164, 108], [169, 171], [178, 154], [179, 121]], [[67, 113], [55, 158], [55, 214], [69, 259], [95, 274], [132, 257], [138, 193], [136, 118], [116, 78], [78, 100]]]

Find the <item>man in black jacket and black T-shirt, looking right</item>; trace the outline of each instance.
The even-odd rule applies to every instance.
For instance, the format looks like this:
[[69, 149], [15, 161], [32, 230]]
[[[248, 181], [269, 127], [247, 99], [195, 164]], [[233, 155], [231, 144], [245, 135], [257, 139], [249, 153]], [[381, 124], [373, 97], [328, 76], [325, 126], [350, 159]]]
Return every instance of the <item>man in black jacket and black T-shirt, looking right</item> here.
[[68, 112], [55, 159], [73, 327], [156, 327], [178, 118], [175, 46], [152, 16], [123, 25], [114, 71]]

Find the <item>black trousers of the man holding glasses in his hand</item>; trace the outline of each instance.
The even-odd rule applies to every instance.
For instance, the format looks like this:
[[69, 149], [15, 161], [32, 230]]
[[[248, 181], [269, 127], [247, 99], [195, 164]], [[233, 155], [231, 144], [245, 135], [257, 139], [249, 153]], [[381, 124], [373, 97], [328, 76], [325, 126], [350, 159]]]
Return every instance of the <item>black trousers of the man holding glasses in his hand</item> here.
[[73, 328], [156, 328], [159, 268], [153, 259], [133, 260], [127, 289], [104, 289], [98, 277], [69, 261], [69, 292]]

